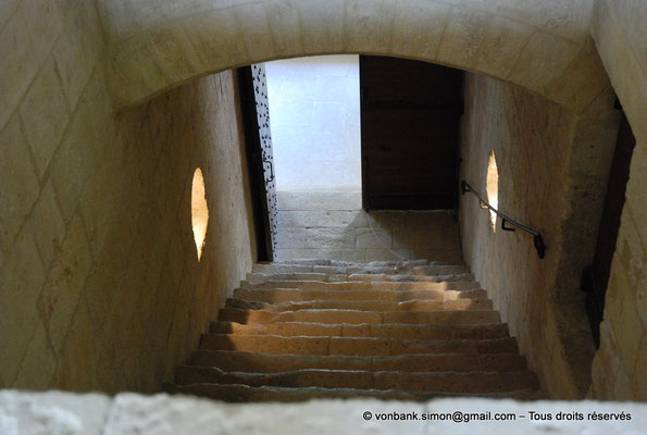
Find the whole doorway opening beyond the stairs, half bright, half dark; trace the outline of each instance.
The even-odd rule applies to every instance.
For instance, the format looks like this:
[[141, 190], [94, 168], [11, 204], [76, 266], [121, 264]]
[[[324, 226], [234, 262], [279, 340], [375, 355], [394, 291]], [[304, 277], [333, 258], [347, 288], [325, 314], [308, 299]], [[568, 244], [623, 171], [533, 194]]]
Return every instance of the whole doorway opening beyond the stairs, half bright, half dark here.
[[276, 199], [275, 260], [462, 261], [449, 212], [458, 198], [461, 71], [368, 55], [251, 71], [261, 67], [251, 74], [264, 82], [251, 86], [263, 130], [256, 167], [264, 171], [258, 179], [269, 171], [274, 179], [273, 192], [259, 186]]

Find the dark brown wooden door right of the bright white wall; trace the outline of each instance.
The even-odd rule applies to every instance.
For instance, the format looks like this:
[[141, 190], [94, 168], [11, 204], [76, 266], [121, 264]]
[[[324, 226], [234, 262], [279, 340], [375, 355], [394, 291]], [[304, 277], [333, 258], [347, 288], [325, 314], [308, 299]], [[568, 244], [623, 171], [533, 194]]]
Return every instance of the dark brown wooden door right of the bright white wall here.
[[455, 209], [462, 71], [360, 57], [365, 210]]

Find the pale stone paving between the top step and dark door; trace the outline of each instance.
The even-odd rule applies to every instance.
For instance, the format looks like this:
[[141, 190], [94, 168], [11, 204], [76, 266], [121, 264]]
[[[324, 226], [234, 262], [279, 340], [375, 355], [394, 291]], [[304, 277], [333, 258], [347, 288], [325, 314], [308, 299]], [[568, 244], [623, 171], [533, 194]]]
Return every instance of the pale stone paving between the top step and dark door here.
[[361, 191], [278, 191], [277, 206], [276, 261], [463, 261], [450, 211], [366, 213]]

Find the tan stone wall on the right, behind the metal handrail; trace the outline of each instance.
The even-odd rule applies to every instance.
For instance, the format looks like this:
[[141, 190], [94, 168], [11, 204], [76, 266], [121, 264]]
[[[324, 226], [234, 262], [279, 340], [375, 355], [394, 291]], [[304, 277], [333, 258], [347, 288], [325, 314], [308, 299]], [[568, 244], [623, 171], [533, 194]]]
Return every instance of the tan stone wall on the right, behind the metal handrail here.
[[[498, 209], [539, 229], [548, 251], [539, 260], [530, 234], [502, 231], [500, 217], [493, 227], [477, 199], [464, 195], [460, 203], [463, 253], [553, 398], [582, 395], [562, 336], [584, 337], [575, 352], [584, 364], [590, 365], [593, 356], [583, 294], [577, 288], [569, 296], [557, 290], [575, 126], [575, 116], [553, 102], [493, 78], [465, 76], [461, 178], [485, 196], [494, 152]], [[578, 273], [571, 270], [573, 275]], [[561, 322], [560, 310], [570, 311], [570, 328]]]

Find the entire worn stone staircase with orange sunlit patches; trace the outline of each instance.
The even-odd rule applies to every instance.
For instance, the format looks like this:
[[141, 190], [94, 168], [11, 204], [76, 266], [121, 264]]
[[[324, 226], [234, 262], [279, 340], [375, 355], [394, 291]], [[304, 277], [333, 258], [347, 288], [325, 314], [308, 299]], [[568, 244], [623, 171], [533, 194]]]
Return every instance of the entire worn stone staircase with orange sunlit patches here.
[[540, 397], [470, 271], [422, 260], [254, 264], [167, 389], [226, 401]]

